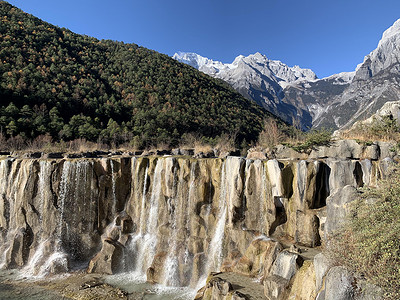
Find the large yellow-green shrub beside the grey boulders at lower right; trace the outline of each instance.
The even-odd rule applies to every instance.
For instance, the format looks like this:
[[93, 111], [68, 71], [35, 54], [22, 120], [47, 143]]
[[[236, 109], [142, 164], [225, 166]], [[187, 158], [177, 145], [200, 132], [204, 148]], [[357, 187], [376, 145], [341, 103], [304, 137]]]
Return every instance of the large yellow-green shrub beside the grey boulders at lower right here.
[[337, 263], [383, 288], [385, 299], [400, 299], [400, 171], [376, 189], [363, 189], [347, 226], [328, 243]]

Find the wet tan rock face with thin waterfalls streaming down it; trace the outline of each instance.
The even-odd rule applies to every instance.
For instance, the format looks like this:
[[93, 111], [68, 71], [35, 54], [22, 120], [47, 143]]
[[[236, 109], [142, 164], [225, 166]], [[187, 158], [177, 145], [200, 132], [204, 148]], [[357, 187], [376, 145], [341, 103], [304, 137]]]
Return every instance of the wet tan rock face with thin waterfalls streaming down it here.
[[0, 266], [44, 275], [85, 262], [171, 286], [221, 267], [290, 280], [269, 237], [318, 246], [346, 213], [338, 193], [384, 170], [339, 159], [2, 159]]

